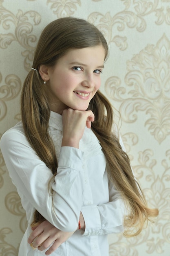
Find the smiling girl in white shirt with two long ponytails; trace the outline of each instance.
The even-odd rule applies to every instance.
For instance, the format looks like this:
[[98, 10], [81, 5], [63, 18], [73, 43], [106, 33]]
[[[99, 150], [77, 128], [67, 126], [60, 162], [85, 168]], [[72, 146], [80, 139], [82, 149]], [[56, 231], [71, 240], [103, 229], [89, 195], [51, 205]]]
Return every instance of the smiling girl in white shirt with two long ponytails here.
[[22, 122], [0, 142], [29, 222], [19, 256], [47, 248], [53, 256], [108, 256], [107, 234], [135, 236], [158, 215], [99, 92], [107, 56], [104, 36], [85, 20], [61, 18], [42, 31], [22, 89]]

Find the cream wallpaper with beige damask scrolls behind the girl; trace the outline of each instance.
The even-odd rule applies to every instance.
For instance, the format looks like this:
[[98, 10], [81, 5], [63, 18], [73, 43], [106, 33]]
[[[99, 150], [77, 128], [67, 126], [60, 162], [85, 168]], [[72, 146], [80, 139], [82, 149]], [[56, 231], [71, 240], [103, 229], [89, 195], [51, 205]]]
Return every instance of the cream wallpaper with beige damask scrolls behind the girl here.
[[[170, 255], [170, 0], [0, 0], [0, 137], [20, 120], [20, 92], [40, 31], [64, 16], [105, 35], [102, 92], [151, 207], [160, 214], [135, 238], [109, 235], [110, 256]], [[118, 112], [118, 111], [119, 112]], [[0, 153], [0, 255], [17, 256], [26, 228]]]

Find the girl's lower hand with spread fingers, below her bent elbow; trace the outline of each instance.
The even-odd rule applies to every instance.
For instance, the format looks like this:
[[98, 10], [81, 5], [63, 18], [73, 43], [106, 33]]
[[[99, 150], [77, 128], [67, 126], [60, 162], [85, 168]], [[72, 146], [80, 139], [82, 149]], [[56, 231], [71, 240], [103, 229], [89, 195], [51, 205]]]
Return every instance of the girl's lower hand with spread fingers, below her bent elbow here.
[[28, 238], [28, 243], [33, 249], [38, 248], [38, 250], [44, 251], [53, 243], [45, 255], [50, 255], [74, 234], [74, 232], [64, 232], [57, 229], [47, 220], [43, 221], [37, 227], [33, 227], [32, 230], [33, 232]]

